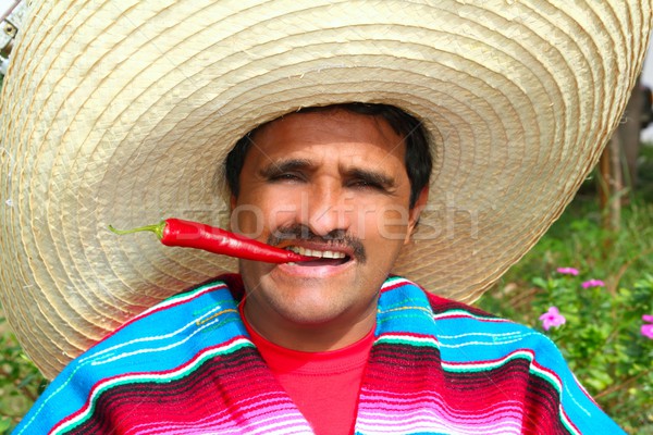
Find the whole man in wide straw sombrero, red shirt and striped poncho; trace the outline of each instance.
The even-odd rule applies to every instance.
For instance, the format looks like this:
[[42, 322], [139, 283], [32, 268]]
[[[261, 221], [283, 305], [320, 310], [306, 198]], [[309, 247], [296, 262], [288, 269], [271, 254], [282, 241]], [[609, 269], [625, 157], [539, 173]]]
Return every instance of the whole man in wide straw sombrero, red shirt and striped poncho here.
[[[346, 2], [73, 3], [35, 5], [2, 99], [17, 202], [3, 217], [51, 222], [3, 229], [23, 260], [3, 260], [3, 304], [30, 355], [78, 355], [16, 433], [620, 432], [551, 341], [427, 290], [473, 298], [568, 202], [641, 66], [651, 4], [606, 2], [601, 20], [565, 7], [591, 21], [571, 32], [545, 9], [483, 2], [357, 3], [362, 18]], [[605, 44], [626, 28], [640, 45]], [[588, 53], [571, 44], [592, 38]], [[27, 55], [71, 41], [84, 55]], [[607, 52], [618, 69], [581, 67]], [[601, 100], [571, 92], [590, 78]], [[38, 111], [12, 110], [25, 95]], [[213, 207], [233, 231], [316, 259], [223, 274], [223, 259], [94, 234], [152, 210], [199, 215], [223, 175]], [[202, 273], [218, 277], [157, 301]], [[15, 314], [35, 306], [25, 295], [42, 319]], [[39, 366], [57, 374], [53, 359]]]

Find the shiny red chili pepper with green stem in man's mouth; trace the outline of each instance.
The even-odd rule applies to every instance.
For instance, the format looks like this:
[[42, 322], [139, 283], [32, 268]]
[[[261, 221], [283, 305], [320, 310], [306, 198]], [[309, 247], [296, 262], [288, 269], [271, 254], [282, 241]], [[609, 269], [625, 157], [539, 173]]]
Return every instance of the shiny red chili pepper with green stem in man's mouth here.
[[245, 260], [263, 261], [268, 263], [288, 263], [295, 261], [315, 260], [313, 257], [301, 256], [286, 249], [275, 248], [249, 237], [230, 233], [222, 228], [183, 221], [167, 219], [159, 224], [141, 226], [134, 229], [115, 229], [115, 234], [132, 234], [141, 231], [152, 232], [165, 246], [196, 248], [205, 251], [236, 257]]

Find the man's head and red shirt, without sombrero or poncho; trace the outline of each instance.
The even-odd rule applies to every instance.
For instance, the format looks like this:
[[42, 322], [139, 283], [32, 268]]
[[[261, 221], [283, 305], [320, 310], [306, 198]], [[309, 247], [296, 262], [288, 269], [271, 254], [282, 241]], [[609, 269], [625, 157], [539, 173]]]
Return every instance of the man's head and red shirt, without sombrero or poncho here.
[[[391, 126], [383, 114], [406, 122]], [[282, 265], [241, 261], [250, 335], [317, 433], [349, 433], [379, 289], [427, 201], [424, 133], [395, 108], [328, 107], [258, 127], [234, 153], [244, 159], [225, 162], [233, 209], [260, 210], [260, 238], [269, 244], [320, 257]], [[246, 233], [260, 224], [236, 222]]]

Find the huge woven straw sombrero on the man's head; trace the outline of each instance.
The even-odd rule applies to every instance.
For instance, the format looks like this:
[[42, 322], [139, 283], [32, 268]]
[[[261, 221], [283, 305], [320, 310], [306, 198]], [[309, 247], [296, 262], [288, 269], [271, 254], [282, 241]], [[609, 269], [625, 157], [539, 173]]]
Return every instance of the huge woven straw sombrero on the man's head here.
[[419, 117], [431, 202], [396, 272], [472, 301], [571, 200], [619, 122], [650, 0], [39, 0], [1, 99], [1, 302], [56, 375], [235, 262], [118, 237], [226, 222], [214, 179], [256, 125], [364, 101]]

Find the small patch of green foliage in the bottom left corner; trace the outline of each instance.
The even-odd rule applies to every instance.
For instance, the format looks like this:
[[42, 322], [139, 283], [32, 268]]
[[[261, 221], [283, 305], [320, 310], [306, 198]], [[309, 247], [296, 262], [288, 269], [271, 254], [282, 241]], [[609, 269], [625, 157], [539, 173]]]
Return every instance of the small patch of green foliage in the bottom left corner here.
[[0, 434], [9, 434], [47, 385], [0, 311]]

